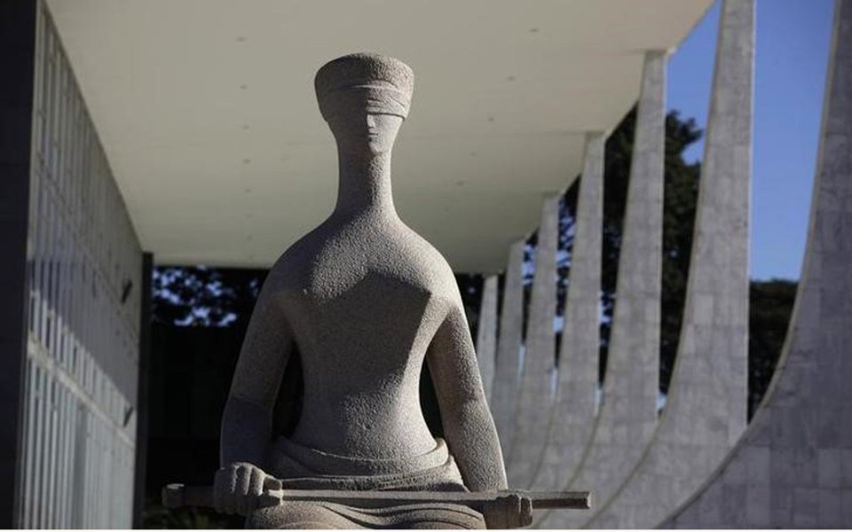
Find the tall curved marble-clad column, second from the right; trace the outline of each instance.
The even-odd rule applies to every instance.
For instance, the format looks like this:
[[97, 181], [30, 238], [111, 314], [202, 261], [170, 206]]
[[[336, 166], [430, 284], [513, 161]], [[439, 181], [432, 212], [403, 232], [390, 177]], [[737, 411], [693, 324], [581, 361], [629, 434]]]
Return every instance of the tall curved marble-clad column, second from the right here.
[[[659, 426], [588, 525], [651, 528], [694, 493], [746, 427], [753, 0], [725, 0], [681, 340]], [[743, 503], [744, 501], [740, 501]]]

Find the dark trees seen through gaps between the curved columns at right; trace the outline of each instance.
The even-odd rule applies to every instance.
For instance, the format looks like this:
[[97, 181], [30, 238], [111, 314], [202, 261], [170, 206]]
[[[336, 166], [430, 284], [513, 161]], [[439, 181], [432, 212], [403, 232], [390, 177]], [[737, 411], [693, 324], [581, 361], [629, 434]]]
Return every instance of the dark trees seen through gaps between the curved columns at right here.
[[[604, 160], [604, 242], [600, 379], [603, 381], [609, 348], [612, 312], [618, 294], [616, 285], [621, 249], [622, 223], [627, 207], [627, 184], [635, 134], [635, 108], [627, 113], [607, 139]], [[680, 340], [683, 302], [690, 270], [690, 253], [698, 200], [698, 162], [683, 159], [686, 149], [697, 142], [702, 131], [693, 119], [683, 120], [676, 111], [666, 117], [665, 191], [663, 207], [663, 259], [660, 330], [660, 391], [666, 393]], [[571, 246], [579, 181], [565, 192], [560, 210], [558, 284], [556, 315], [564, 314], [564, 299], [570, 283]], [[525, 249], [525, 295], [529, 300], [532, 264], [538, 242], [536, 233]], [[753, 281], [750, 292], [749, 416], [769, 386], [784, 344], [785, 331], [795, 299], [793, 281]], [[525, 316], [526, 323], [526, 316]], [[558, 342], [557, 342], [558, 345]]]

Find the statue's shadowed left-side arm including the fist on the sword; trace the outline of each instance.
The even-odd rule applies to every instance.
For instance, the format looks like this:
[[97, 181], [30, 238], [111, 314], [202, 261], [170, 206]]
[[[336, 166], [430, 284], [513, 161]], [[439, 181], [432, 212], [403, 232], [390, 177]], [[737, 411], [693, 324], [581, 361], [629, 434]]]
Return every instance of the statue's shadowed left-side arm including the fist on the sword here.
[[274, 291], [262, 290], [248, 322], [222, 415], [221, 468], [214, 489], [219, 512], [247, 515], [264, 488], [275, 488], [263, 467], [272, 442], [272, 407], [293, 341]]

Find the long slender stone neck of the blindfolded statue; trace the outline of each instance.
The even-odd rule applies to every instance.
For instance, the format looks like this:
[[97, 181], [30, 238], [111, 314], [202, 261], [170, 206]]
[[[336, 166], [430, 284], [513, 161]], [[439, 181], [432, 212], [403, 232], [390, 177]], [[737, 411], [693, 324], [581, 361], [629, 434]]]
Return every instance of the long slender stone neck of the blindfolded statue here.
[[397, 215], [390, 190], [390, 152], [351, 154], [338, 149], [335, 215]]

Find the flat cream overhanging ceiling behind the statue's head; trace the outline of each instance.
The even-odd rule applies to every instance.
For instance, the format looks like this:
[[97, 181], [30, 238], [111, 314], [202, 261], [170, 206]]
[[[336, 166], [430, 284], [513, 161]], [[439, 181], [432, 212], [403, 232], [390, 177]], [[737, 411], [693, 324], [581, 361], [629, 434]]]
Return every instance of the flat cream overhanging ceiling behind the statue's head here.
[[266, 267], [335, 203], [319, 66], [414, 69], [399, 214], [456, 271], [501, 270], [586, 131], [639, 93], [643, 51], [711, 0], [49, 0], [143, 247], [162, 264]]

